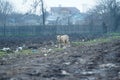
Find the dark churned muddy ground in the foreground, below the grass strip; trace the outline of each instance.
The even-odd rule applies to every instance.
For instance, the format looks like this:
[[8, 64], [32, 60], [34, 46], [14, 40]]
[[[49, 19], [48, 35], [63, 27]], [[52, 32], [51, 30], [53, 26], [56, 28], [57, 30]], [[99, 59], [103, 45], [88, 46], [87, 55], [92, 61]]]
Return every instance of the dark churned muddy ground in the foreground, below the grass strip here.
[[0, 58], [0, 80], [120, 80], [120, 40]]

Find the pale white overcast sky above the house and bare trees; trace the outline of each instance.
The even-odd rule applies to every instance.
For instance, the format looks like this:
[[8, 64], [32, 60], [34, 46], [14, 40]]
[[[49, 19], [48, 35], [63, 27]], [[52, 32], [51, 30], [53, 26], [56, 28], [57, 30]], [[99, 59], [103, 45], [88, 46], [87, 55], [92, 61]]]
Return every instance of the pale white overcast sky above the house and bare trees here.
[[[27, 12], [30, 9], [30, 4], [32, 0], [8, 0], [15, 7], [16, 11]], [[24, 3], [27, 1], [27, 3]], [[45, 0], [45, 6], [47, 10], [50, 7], [77, 7], [81, 12], [88, 10], [95, 5], [95, 0]]]

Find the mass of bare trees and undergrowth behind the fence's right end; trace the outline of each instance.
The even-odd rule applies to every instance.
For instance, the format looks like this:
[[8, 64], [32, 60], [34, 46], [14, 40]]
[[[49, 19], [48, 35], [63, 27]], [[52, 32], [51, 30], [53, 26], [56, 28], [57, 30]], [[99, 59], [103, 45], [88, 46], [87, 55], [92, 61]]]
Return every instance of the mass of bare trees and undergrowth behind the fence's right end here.
[[105, 33], [119, 31], [120, 0], [99, 0], [97, 5], [89, 10], [87, 19], [89, 25], [101, 25]]

